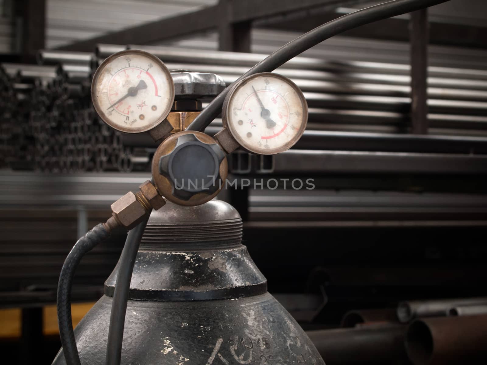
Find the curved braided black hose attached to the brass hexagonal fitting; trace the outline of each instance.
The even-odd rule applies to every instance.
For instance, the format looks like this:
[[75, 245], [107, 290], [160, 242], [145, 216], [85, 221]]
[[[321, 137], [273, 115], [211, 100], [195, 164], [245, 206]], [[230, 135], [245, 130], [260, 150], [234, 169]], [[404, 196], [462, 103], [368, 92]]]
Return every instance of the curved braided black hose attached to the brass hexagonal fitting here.
[[79, 238], [64, 260], [57, 284], [57, 323], [66, 364], [81, 365], [76, 347], [73, 320], [71, 318], [71, 288], [73, 276], [81, 258], [96, 245], [110, 237], [102, 223], [96, 225], [86, 235]]

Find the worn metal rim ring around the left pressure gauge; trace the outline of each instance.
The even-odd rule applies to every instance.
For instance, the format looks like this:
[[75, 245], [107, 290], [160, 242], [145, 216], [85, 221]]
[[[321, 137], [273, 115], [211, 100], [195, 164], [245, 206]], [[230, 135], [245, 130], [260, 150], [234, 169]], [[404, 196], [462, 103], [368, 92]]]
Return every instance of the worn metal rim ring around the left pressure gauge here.
[[[165, 73], [169, 79], [170, 90], [169, 90], [168, 105], [166, 106], [166, 109], [164, 109], [161, 112], [161, 114], [160, 114], [161, 116], [155, 122], [153, 122], [150, 125], [145, 126], [145, 127], [136, 127], [136, 128], [123, 127], [123, 126], [119, 126], [119, 125], [113, 123], [110, 120], [110, 118], [104, 113], [104, 111], [101, 110], [100, 105], [98, 104], [98, 98], [96, 97], [96, 83], [98, 82], [100, 75], [103, 73], [103, 71], [105, 70], [107, 65], [109, 65], [113, 59], [118, 58], [120, 56], [126, 56], [126, 55], [142, 55], [142, 56], [149, 58], [151, 60], [151, 62], [154, 62], [155, 64], [157, 64], [157, 66], [159, 66], [161, 68], [163, 73]], [[134, 49], [123, 50], [123, 51], [120, 51], [120, 52], [114, 53], [113, 55], [108, 56], [101, 63], [101, 65], [96, 69], [96, 71], [93, 75], [93, 80], [92, 80], [92, 84], [91, 84], [91, 98], [92, 98], [92, 103], [94, 106], [94, 110], [96, 110], [96, 113], [110, 127], [112, 127], [113, 129], [116, 129], [118, 131], [125, 132], [125, 133], [147, 132], [148, 130], [151, 130], [151, 129], [157, 127], [159, 124], [161, 124], [167, 118], [167, 116], [169, 115], [169, 112], [171, 111], [172, 104], [174, 103], [174, 95], [175, 95], [174, 82], [172, 81], [172, 76], [171, 76], [171, 73], [170, 73], [168, 67], [158, 57], [150, 54], [149, 52], [145, 52], [142, 50], [134, 50]]]

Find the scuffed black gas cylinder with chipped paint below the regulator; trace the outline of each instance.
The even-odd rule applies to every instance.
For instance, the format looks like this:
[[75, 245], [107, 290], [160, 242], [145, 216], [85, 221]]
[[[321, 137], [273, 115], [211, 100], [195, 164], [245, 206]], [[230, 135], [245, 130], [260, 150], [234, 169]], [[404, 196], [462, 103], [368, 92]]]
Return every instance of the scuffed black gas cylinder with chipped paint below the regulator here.
[[[104, 365], [117, 268], [75, 328], [81, 364]], [[168, 202], [150, 215], [125, 319], [123, 365], [324, 364], [267, 292], [242, 245], [242, 219], [224, 201]], [[65, 364], [62, 350], [53, 364]]]

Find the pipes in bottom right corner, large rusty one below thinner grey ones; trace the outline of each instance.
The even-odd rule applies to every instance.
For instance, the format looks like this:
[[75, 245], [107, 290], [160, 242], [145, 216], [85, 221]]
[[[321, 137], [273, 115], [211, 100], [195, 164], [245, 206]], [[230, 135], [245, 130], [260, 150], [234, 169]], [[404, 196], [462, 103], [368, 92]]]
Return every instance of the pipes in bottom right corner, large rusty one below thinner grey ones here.
[[486, 297], [401, 302], [397, 318], [409, 323], [405, 348], [414, 365], [487, 362]]

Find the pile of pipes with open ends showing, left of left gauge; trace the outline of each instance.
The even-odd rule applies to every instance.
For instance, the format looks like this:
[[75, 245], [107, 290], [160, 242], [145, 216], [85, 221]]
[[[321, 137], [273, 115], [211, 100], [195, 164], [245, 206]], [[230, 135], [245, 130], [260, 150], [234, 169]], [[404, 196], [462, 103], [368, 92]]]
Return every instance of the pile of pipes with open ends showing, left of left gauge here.
[[40, 51], [41, 65], [1, 65], [2, 165], [49, 172], [132, 170], [132, 149], [93, 109], [91, 60], [86, 53]]

